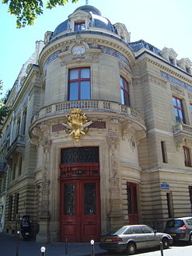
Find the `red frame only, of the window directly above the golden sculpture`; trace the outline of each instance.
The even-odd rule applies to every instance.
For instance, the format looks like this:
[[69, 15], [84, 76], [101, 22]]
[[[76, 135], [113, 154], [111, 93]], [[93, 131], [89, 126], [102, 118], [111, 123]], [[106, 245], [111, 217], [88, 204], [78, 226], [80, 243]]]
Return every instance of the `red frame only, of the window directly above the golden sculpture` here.
[[[78, 83], [78, 98], [75, 99], [75, 100], [85, 100], [85, 99], [82, 99], [82, 96], [81, 96], [81, 83], [82, 82], [85, 82], [85, 81], [89, 81], [89, 99], [86, 99], [86, 100], [90, 100], [91, 98], [91, 70], [89, 68], [89, 78], [82, 78], [81, 77], [81, 72], [82, 72], [82, 69], [83, 68], [89, 68], [89, 67], [81, 67], [81, 68], [71, 68], [69, 69], [68, 71], [68, 100], [71, 100], [70, 99], [70, 89], [71, 89], [71, 82], [77, 82]], [[78, 70], [78, 78], [77, 79], [70, 79], [70, 72], [74, 69], [77, 69]]]

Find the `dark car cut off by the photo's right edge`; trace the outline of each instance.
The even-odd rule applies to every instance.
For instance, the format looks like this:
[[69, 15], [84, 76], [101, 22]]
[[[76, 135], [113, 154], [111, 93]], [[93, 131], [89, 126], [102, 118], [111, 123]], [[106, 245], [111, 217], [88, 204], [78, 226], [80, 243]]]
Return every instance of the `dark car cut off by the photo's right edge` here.
[[164, 232], [169, 233], [175, 241], [183, 240], [192, 244], [192, 217], [169, 219]]

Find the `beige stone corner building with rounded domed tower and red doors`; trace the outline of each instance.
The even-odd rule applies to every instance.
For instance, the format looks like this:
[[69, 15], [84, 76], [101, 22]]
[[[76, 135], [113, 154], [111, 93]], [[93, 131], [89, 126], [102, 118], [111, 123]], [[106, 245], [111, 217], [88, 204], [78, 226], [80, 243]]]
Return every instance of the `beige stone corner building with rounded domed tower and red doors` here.
[[3, 230], [30, 215], [37, 241], [81, 242], [190, 216], [191, 65], [90, 5], [47, 31], [7, 100]]

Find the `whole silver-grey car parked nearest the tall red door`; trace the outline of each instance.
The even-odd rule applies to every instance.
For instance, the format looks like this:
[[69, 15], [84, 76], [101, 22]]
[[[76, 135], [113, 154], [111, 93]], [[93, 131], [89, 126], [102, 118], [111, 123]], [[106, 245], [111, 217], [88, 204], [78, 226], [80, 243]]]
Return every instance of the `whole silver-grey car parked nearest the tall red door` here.
[[135, 254], [138, 249], [156, 247], [162, 242], [163, 247], [169, 248], [173, 238], [166, 233], [157, 233], [150, 226], [129, 225], [106, 234], [100, 238], [99, 247], [106, 251], [126, 251]]

